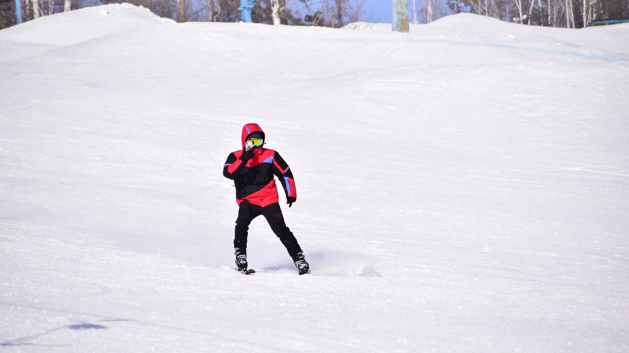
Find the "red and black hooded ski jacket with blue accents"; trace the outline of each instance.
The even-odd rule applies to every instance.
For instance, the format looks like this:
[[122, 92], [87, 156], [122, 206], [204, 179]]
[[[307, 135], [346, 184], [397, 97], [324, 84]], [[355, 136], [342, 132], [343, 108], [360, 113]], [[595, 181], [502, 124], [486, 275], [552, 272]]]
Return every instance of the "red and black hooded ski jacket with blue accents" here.
[[[245, 145], [247, 137], [253, 133], [261, 133], [262, 138], [265, 138], [264, 131], [258, 124], [247, 124], [242, 128], [242, 146]], [[253, 158], [246, 164], [240, 160], [242, 154], [242, 149], [230, 153], [223, 167], [225, 178], [234, 181], [238, 205], [245, 200], [262, 207], [279, 202], [274, 175], [282, 184], [286, 198], [297, 198], [291, 168], [279, 153], [258, 147], [253, 150]]]

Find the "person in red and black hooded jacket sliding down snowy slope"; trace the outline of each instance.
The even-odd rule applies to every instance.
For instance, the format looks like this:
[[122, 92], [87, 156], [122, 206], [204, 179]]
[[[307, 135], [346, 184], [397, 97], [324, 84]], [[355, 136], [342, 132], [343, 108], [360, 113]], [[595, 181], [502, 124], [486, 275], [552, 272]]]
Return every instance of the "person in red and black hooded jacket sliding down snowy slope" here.
[[309, 273], [310, 266], [304, 259], [297, 239], [284, 222], [277, 195], [277, 176], [284, 192], [288, 207], [297, 200], [295, 181], [291, 168], [272, 149], [264, 148], [265, 134], [258, 124], [246, 124], [242, 128], [242, 149], [230, 153], [223, 167], [223, 175], [234, 181], [238, 218], [234, 235], [236, 269], [247, 271], [247, 231], [251, 221], [263, 215], [272, 231], [286, 247], [288, 254], [299, 270], [299, 274]]

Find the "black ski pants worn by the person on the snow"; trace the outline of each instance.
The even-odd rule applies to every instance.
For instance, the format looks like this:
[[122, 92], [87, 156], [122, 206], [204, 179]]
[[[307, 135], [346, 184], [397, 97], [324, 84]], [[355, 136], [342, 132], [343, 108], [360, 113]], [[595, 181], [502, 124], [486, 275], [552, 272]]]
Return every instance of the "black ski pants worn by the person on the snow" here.
[[293, 261], [297, 261], [301, 253], [301, 247], [299, 247], [299, 243], [297, 242], [295, 236], [292, 235], [291, 230], [286, 227], [284, 215], [282, 215], [282, 210], [279, 208], [279, 204], [277, 202], [275, 204], [270, 204], [267, 207], [253, 205], [247, 201], [240, 203], [234, 236], [234, 249], [236, 253], [247, 254], [247, 234], [249, 224], [251, 224], [251, 221], [259, 215], [264, 215], [264, 218], [267, 219], [267, 222], [269, 222], [271, 230], [276, 234], [282, 244], [284, 244]]

